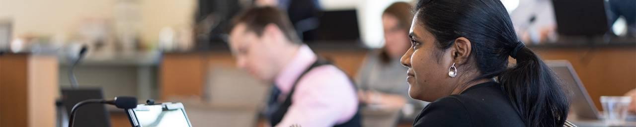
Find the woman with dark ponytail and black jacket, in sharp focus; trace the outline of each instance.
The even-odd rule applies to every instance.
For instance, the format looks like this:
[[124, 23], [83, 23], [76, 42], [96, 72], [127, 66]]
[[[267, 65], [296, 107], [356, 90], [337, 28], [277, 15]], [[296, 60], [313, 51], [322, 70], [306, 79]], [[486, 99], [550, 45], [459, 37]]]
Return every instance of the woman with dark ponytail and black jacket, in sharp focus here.
[[[563, 126], [555, 74], [515, 34], [499, 0], [422, 0], [410, 29], [409, 95], [431, 102], [413, 126]], [[516, 65], [508, 67], [509, 57]]]

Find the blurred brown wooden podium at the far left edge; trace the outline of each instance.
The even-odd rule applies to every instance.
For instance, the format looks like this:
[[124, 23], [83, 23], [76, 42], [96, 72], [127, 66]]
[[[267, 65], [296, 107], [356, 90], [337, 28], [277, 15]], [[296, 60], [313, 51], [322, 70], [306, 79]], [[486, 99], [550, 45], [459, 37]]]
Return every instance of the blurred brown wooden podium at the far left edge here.
[[55, 126], [57, 57], [0, 55], [0, 126]]

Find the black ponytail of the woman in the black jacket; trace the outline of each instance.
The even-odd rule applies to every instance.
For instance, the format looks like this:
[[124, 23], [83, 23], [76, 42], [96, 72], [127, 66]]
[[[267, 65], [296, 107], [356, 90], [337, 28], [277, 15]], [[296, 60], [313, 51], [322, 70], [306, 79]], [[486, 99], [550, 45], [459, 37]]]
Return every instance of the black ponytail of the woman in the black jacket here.
[[519, 47], [511, 51], [515, 67], [502, 72], [499, 83], [526, 126], [563, 126], [569, 100], [555, 74], [532, 50]]

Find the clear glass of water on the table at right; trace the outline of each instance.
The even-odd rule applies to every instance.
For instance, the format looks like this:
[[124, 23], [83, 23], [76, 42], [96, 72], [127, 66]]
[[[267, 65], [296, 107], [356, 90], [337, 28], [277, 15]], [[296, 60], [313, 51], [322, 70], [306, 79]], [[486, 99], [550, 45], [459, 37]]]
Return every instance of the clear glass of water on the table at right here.
[[605, 123], [609, 126], [625, 123], [627, 109], [631, 102], [632, 97], [601, 96], [600, 103], [603, 105]]

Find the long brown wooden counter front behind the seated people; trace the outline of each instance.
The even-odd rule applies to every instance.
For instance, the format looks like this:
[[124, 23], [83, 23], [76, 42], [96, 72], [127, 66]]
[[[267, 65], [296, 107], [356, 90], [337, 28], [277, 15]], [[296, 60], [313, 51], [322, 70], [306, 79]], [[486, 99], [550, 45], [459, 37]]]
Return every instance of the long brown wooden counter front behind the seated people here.
[[[636, 88], [636, 47], [634, 48], [539, 48], [533, 49], [544, 60], [568, 60], [581, 77], [584, 86], [599, 109], [602, 95], [623, 95]], [[366, 51], [317, 51], [333, 60], [349, 76], [355, 76]], [[181, 57], [177, 57], [181, 56]], [[207, 56], [207, 57], [206, 57]], [[207, 60], [206, 60], [207, 59]], [[183, 61], [182, 61], [183, 60]], [[207, 63], [205, 63], [207, 61]], [[163, 58], [160, 70], [166, 95], [198, 95], [202, 93], [204, 76], [211, 65], [233, 67], [230, 53], [189, 53]]]

